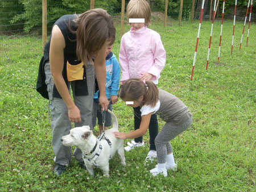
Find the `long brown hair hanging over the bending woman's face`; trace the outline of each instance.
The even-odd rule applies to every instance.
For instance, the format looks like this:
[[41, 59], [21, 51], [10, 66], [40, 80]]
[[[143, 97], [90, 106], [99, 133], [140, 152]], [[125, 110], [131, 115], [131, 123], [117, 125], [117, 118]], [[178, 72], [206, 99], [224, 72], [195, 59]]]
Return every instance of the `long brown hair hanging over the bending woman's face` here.
[[86, 64], [92, 62], [92, 57], [97, 55], [106, 41], [114, 44], [115, 27], [112, 17], [106, 10], [92, 9], [77, 16], [75, 20], [76, 55], [77, 59]]

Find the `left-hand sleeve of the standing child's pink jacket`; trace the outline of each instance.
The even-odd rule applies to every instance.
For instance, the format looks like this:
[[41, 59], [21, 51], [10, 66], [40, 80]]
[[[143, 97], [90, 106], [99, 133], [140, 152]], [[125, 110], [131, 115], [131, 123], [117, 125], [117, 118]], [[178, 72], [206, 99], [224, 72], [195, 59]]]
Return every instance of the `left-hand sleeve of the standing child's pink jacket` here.
[[119, 51], [119, 62], [122, 70], [121, 81], [128, 80], [130, 78], [129, 62], [126, 55], [125, 40], [124, 37], [121, 39], [120, 51]]

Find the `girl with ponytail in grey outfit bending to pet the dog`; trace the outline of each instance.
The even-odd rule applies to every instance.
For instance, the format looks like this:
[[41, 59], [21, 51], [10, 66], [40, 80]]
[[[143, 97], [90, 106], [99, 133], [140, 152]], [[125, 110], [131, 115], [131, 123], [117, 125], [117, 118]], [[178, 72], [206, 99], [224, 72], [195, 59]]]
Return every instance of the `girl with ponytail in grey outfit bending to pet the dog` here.
[[179, 98], [158, 89], [151, 81], [142, 81], [139, 78], [125, 81], [119, 97], [130, 107], [141, 106], [142, 120], [138, 130], [130, 133], [114, 132], [114, 135], [121, 139], [143, 136], [147, 132], [151, 115], [159, 115], [166, 124], [155, 138], [158, 165], [150, 172], [153, 176], [163, 174], [166, 177], [167, 169], [177, 170], [169, 141], [191, 126], [192, 114], [188, 107]]

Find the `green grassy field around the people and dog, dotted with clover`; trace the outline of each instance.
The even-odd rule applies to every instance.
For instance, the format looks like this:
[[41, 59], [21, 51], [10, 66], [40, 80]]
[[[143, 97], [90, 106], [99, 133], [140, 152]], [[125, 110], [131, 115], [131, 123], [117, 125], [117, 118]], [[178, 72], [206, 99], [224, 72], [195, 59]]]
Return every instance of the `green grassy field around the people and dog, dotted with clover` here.
[[[8, 52], [0, 63], [0, 191], [255, 191], [256, 26], [251, 24], [249, 45], [241, 40], [243, 22], [236, 22], [233, 56], [230, 56], [233, 21], [224, 22], [221, 59], [217, 62], [220, 20], [214, 22], [209, 68], [205, 70], [211, 22], [203, 21], [193, 80], [190, 80], [199, 22], [179, 27], [154, 16], [150, 26], [159, 32], [167, 52], [159, 87], [179, 97], [191, 110], [193, 124], [171, 141], [178, 166], [167, 177], [152, 177], [156, 162], [144, 164], [146, 147], [126, 153], [127, 165], [115, 156], [110, 178], [96, 169], [96, 177], [80, 169], [75, 159], [59, 178], [52, 174], [54, 154], [48, 101], [35, 90], [41, 40]], [[113, 52], [118, 56], [119, 24]], [[125, 32], [129, 31], [125, 26]], [[7, 37], [1, 37], [5, 44]], [[11, 38], [19, 45], [19, 39]], [[38, 42], [31, 47], [30, 42]], [[7, 50], [5, 50], [7, 52]], [[23, 53], [24, 52], [24, 53]], [[113, 111], [119, 130], [133, 130], [133, 111], [119, 101]], [[159, 127], [164, 122], [159, 119]], [[97, 128], [94, 130], [97, 134]], [[129, 140], [125, 140], [125, 143]]]

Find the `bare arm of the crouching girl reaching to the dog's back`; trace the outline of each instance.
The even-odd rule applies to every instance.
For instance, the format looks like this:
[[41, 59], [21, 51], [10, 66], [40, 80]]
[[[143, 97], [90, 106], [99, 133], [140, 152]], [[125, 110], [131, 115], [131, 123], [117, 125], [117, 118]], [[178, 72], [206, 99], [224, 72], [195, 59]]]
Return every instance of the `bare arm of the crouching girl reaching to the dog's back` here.
[[139, 126], [138, 130], [135, 130], [130, 133], [123, 133], [123, 132], [113, 132], [115, 137], [118, 137], [120, 139], [133, 139], [140, 136], [145, 135], [147, 132], [148, 126], [150, 124], [151, 115], [153, 112], [147, 115], [143, 115], [141, 118], [141, 125]]

